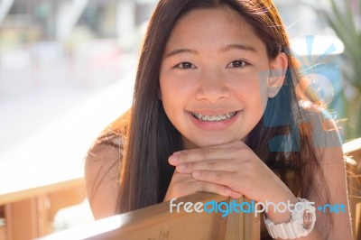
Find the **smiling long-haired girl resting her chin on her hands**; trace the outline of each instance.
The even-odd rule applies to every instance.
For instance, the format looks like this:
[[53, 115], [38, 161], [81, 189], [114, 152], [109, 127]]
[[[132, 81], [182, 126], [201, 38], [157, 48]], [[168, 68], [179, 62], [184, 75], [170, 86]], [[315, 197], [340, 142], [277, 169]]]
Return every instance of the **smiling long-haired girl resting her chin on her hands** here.
[[[316, 208], [345, 206], [314, 213], [303, 239], [351, 239], [338, 130], [308, 100], [289, 49], [272, 0], [161, 0], [133, 106], [88, 152], [94, 216], [197, 191], [275, 204], [301, 197]], [[265, 218], [285, 226], [293, 217], [270, 210]]]

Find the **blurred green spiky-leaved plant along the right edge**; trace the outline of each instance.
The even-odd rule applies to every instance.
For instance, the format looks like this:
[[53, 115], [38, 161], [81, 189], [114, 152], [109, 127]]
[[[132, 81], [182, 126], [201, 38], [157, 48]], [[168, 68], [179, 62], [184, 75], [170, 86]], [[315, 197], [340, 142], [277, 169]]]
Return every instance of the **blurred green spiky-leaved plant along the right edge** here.
[[342, 67], [346, 85], [344, 100], [345, 139], [361, 136], [361, 0], [329, 0], [330, 11], [318, 9], [329, 25], [344, 42], [344, 64]]

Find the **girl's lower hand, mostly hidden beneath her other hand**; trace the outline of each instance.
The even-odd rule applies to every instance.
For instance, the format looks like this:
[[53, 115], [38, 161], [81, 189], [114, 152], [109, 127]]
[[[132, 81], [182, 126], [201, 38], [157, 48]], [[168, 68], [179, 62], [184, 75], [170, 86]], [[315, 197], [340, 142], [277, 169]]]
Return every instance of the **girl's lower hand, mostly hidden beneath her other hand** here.
[[171, 184], [168, 187], [163, 201], [187, 196], [197, 191], [213, 192], [223, 196], [234, 194], [231, 189], [225, 186], [208, 181], [195, 180], [190, 173], [181, 174], [174, 171], [173, 176], [171, 177]]

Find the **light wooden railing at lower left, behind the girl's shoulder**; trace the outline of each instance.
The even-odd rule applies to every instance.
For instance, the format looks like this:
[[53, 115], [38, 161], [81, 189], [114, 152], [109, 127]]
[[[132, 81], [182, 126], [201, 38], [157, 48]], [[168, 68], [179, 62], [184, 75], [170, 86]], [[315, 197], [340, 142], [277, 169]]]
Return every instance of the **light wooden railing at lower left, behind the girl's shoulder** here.
[[0, 240], [49, 235], [56, 213], [79, 204], [86, 194], [82, 178], [0, 192]]

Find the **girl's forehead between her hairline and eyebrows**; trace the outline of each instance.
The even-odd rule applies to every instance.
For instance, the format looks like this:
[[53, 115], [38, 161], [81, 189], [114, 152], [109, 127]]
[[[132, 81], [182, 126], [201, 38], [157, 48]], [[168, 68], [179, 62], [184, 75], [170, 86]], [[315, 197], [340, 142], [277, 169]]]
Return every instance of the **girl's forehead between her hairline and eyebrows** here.
[[184, 44], [200, 47], [210, 42], [212, 45], [244, 42], [264, 48], [251, 24], [229, 7], [199, 9], [185, 14], [174, 25], [166, 48], [183, 47]]

